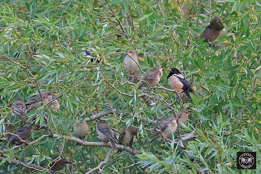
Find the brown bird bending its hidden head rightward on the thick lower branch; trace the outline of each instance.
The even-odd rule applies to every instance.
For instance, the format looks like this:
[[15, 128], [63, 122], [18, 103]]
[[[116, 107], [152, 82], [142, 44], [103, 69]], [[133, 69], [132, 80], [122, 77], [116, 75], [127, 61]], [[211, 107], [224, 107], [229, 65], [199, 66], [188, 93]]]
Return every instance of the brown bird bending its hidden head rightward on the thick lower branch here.
[[[119, 144], [125, 145], [128, 144], [132, 148], [134, 135], [137, 135], [139, 128], [135, 128], [130, 125], [128, 128], [125, 126], [119, 135]], [[118, 150], [121, 152], [121, 150]]]

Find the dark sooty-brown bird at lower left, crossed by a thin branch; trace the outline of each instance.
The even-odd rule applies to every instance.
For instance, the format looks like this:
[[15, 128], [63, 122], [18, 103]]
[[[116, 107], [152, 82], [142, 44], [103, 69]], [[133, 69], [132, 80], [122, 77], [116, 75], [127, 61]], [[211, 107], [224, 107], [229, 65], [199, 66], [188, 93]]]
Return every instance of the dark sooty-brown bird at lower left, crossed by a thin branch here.
[[[13, 134], [18, 135], [22, 140], [27, 140], [31, 134], [32, 134], [32, 126], [31, 125], [24, 125], [21, 128], [18, 128], [13, 132]], [[21, 144], [22, 142], [20, 139], [14, 135], [9, 135], [7, 137], [8, 141], [5, 142], [5, 145], [9, 142], [11, 145], [12, 144]]]

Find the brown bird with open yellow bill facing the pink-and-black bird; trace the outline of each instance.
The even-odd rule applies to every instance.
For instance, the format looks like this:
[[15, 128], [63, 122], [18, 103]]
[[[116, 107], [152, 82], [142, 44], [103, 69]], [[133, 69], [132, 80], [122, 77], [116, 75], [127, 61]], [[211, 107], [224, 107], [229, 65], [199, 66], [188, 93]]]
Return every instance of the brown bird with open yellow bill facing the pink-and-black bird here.
[[141, 89], [142, 87], [147, 86], [147, 83], [150, 87], [153, 87], [157, 83], [159, 83], [162, 76], [162, 69], [163, 68], [161, 68], [161, 66], [154, 66], [151, 71], [141, 77], [141, 80], [139, 82], [141, 82], [142, 84], [139, 84], [138, 88]]

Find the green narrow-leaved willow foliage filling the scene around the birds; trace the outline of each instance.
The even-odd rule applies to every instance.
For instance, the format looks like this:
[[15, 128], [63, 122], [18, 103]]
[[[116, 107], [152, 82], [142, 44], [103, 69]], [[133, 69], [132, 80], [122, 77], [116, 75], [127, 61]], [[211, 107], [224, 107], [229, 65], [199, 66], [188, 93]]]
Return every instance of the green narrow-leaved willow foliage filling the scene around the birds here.
[[[38, 118], [38, 129], [29, 142], [50, 132], [74, 136], [72, 126], [77, 116], [90, 117], [110, 109], [110, 105], [116, 109], [117, 118], [109, 114], [103, 119], [113, 128], [120, 131], [126, 124], [140, 127], [139, 143], [135, 141], [134, 148], [144, 151], [142, 155], [115, 151], [102, 171], [93, 173], [141, 173], [140, 169], [145, 173], [260, 173], [260, 2], [3, 0], [0, 9], [1, 130], [4, 122], [19, 121], [11, 115], [11, 102], [17, 97], [27, 101], [37, 94], [35, 81], [28, 79], [23, 65], [37, 78], [42, 91], [63, 94], [58, 99], [60, 109], [48, 110], [49, 114], [52, 112], [48, 124], [43, 121], [44, 107], [27, 114]], [[209, 48], [199, 35], [215, 15], [221, 16], [225, 28], [214, 41], [218, 45]], [[159, 98], [150, 108], [138, 96], [137, 81], [124, 84], [125, 54], [117, 52], [126, 52], [132, 45], [142, 70], [163, 65], [162, 86], [170, 88], [166, 77], [172, 67], [179, 68], [194, 86], [197, 95], [192, 95], [193, 104], [188, 103], [191, 114], [182, 131], [183, 135], [191, 131], [196, 135], [183, 142], [185, 148], [161, 140], [148, 143], [150, 131], [145, 128], [155, 126], [148, 126], [148, 122], [155, 115], [171, 115], [159, 99], [170, 104], [175, 93], [160, 88], [147, 90]], [[92, 63], [82, 55], [89, 48], [93, 56], [100, 54], [102, 63]], [[143, 75], [140, 70], [137, 74]], [[179, 100], [172, 107], [179, 111], [183, 103]], [[29, 119], [15, 124], [15, 129], [26, 122]], [[90, 134], [86, 141], [98, 141], [96, 124], [88, 122]], [[62, 143], [63, 139], [46, 138], [1, 156], [33, 164], [47, 163], [50, 157], [59, 155]], [[74, 164], [61, 172], [86, 173], [104, 160], [107, 151], [104, 147], [75, 146], [75, 142], [66, 140], [63, 155]], [[257, 169], [237, 170], [238, 151], [255, 151]], [[157, 159], [155, 153], [164, 158]], [[135, 165], [124, 168], [133, 161]], [[197, 170], [199, 166], [201, 171]], [[7, 173], [14, 167], [2, 161], [0, 170]], [[9, 173], [17, 173], [10, 170]], [[26, 167], [15, 170], [44, 173]]]

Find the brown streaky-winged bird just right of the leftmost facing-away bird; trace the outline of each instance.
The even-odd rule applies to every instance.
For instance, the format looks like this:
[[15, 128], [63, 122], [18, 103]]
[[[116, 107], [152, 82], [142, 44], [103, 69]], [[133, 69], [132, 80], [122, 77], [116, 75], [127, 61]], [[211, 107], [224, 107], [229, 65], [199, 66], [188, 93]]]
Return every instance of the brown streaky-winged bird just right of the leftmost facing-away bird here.
[[[48, 102], [50, 102], [52, 100], [53, 94], [51, 93], [51, 91], [44, 91], [43, 93], [41, 93], [41, 95], [42, 95], [44, 103], [48, 103]], [[37, 96], [35, 96], [35, 97], [30, 98], [24, 104], [30, 105], [29, 109], [28, 109], [28, 110], [30, 110], [30, 109], [33, 109], [33, 108], [41, 107], [42, 105], [41, 104], [37, 104], [38, 102], [41, 102], [41, 98], [40, 98], [39, 94]]]

